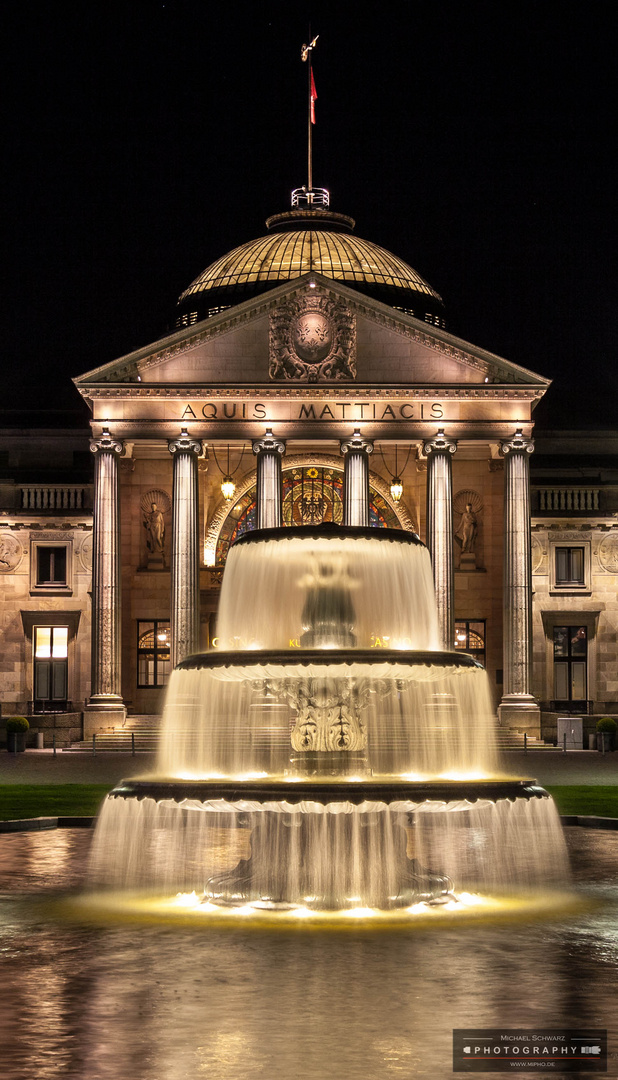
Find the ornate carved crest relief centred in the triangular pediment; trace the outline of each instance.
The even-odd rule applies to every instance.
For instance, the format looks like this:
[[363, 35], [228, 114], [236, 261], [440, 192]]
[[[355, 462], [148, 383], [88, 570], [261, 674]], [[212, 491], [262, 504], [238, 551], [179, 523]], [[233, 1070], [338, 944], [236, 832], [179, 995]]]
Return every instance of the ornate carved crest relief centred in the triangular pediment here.
[[353, 379], [355, 353], [354, 316], [322, 289], [308, 289], [270, 315], [271, 379]]

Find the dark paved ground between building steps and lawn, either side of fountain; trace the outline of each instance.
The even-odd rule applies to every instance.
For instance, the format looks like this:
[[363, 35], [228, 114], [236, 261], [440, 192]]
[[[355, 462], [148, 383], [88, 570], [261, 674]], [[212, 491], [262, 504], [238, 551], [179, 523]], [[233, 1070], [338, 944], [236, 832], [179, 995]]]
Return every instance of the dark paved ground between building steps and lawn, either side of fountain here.
[[[0, 783], [3, 784], [116, 784], [125, 777], [151, 772], [154, 754], [63, 754], [28, 750], [25, 754], [0, 751]], [[503, 755], [509, 775], [538, 780], [541, 784], [616, 784], [618, 753], [594, 751], [523, 751]]]

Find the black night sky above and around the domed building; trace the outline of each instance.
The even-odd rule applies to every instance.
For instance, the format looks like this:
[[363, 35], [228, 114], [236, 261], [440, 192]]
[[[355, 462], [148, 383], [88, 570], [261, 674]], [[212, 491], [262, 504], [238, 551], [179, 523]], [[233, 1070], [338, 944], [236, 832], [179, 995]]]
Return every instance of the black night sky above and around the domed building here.
[[[614, 423], [613, 5], [5, 0], [3, 409], [160, 336], [177, 295], [314, 183], [442, 294], [448, 328]], [[0, 417], [10, 421], [11, 413]]]

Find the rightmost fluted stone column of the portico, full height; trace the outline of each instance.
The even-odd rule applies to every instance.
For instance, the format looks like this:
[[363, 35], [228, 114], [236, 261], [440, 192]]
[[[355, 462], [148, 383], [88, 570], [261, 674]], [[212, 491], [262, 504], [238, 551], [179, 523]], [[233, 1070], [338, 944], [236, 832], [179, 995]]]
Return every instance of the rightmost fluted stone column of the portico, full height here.
[[500, 445], [505, 458], [503, 693], [500, 723], [540, 733], [532, 690], [532, 552], [529, 455], [534, 442], [519, 430]]

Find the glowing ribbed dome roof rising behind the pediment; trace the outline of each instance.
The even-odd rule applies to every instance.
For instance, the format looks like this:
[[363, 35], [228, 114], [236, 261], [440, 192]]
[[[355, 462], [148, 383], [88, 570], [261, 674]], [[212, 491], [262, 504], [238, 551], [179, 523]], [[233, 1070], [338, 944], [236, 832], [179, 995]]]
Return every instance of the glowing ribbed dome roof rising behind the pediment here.
[[266, 237], [234, 247], [196, 278], [178, 299], [176, 326], [186, 326], [311, 270], [434, 325], [444, 325], [442, 298], [416, 270], [378, 244], [347, 230], [352, 218], [319, 208], [292, 210], [267, 220]]

